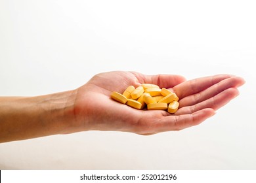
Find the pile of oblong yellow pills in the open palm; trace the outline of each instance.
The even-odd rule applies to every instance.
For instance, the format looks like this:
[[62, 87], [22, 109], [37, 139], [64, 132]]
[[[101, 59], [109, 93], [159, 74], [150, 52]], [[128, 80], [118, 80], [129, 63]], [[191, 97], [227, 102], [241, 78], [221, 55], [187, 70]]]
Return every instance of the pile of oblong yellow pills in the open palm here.
[[112, 92], [111, 98], [119, 103], [130, 107], [148, 110], [167, 110], [175, 113], [179, 108], [179, 97], [166, 88], [161, 88], [156, 84], [142, 84], [135, 88], [129, 86], [123, 94]]

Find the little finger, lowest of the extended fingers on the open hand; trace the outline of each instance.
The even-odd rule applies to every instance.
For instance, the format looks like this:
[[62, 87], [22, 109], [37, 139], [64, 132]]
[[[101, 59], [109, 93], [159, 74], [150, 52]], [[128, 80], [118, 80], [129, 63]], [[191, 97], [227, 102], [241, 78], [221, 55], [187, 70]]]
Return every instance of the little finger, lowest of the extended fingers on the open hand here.
[[201, 124], [207, 118], [213, 116], [215, 111], [212, 108], [204, 108], [192, 114], [183, 114], [179, 116], [164, 116], [159, 122], [158, 132], [181, 130], [187, 127]]

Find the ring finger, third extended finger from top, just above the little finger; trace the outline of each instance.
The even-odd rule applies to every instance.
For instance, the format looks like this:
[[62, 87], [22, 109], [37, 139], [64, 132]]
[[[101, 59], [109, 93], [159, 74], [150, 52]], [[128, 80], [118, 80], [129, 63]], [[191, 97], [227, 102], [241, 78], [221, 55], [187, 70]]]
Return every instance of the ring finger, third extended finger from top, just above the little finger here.
[[202, 110], [203, 108], [213, 108], [214, 110], [217, 110], [226, 105], [230, 100], [234, 99], [238, 94], [239, 92], [237, 88], [228, 88], [214, 97], [202, 101], [201, 103], [179, 108], [175, 115], [192, 114], [198, 110]]

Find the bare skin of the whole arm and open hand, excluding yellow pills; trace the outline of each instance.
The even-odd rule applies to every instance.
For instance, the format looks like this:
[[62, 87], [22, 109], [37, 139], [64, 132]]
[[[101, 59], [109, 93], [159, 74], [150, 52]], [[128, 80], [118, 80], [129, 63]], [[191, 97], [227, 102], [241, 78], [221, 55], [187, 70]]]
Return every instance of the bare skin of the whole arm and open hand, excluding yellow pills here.
[[[179, 97], [175, 114], [137, 110], [110, 99], [113, 91], [142, 83], [167, 88]], [[202, 123], [238, 95], [244, 80], [215, 75], [186, 81], [179, 75], [142, 75], [114, 71], [93, 76], [66, 92], [36, 97], [0, 97], [0, 142], [18, 141], [79, 131], [126, 131], [151, 135]]]

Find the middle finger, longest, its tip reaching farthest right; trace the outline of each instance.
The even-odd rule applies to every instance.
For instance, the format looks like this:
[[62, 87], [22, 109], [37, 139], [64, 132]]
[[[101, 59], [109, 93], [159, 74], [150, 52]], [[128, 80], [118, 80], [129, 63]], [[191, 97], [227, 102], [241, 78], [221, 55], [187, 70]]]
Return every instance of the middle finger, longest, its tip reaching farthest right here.
[[221, 80], [221, 82], [218, 82], [217, 84], [214, 84], [213, 86], [207, 88], [206, 90], [203, 90], [202, 92], [184, 97], [179, 101], [180, 108], [185, 106], [196, 105], [197, 103], [214, 97], [218, 93], [221, 93], [228, 88], [236, 88], [241, 86], [242, 84], [244, 84], [243, 78], [237, 76], [226, 78], [224, 80]]

